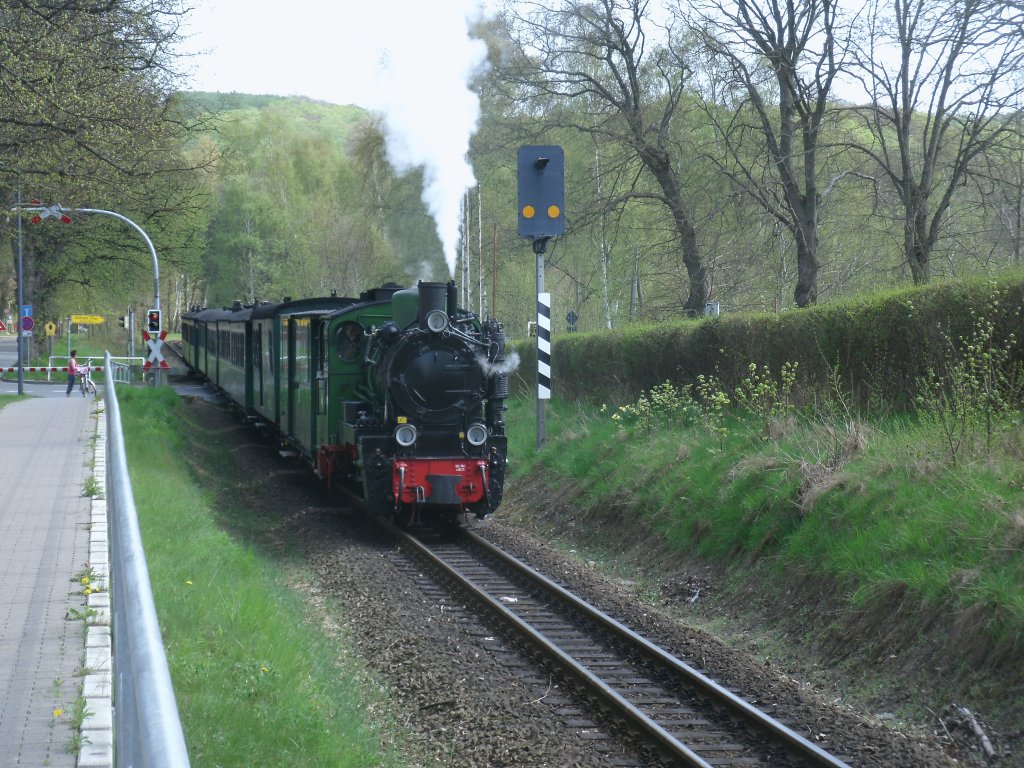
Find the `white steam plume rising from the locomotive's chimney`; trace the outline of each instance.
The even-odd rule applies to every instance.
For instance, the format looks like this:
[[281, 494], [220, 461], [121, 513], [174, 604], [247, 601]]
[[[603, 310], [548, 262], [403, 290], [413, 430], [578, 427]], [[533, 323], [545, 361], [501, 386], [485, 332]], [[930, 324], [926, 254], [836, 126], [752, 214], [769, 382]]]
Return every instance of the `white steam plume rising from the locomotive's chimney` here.
[[476, 183], [468, 153], [480, 102], [469, 83], [485, 65], [486, 46], [471, 27], [484, 9], [480, 0], [375, 5], [387, 42], [373, 108], [384, 120], [388, 161], [398, 174], [423, 168], [423, 202], [454, 276], [461, 201]]

